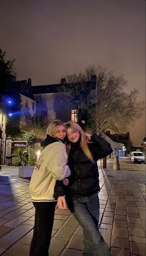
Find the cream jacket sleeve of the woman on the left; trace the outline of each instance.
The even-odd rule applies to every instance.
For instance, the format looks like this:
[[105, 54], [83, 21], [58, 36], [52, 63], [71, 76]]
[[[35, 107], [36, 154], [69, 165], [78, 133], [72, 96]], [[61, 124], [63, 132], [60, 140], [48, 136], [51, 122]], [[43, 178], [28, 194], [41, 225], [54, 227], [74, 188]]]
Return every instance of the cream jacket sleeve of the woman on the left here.
[[63, 180], [71, 175], [71, 170], [67, 166], [66, 146], [61, 142], [53, 143], [51, 148], [48, 170], [56, 180]]

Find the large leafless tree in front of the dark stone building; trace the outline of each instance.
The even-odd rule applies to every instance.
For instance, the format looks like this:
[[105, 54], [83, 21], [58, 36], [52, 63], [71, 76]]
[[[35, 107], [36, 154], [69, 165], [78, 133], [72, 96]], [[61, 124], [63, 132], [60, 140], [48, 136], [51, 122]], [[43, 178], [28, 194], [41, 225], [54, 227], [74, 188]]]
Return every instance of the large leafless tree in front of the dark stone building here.
[[[91, 82], [94, 75], [97, 76], [96, 86]], [[139, 91], [132, 89], [126, 93], [126, 85], [122, 75], [115, 76], [113, 71], [108, 72], [101, 66], [89, 66], [84, 73], [67, 76], [61, 91], [80, 115], [88, 113], [90, 128], [94, 130], [98, 120], [101, 134], [106, 130], [125, 131], [142, 117], [144, 102], [137, 100]]]

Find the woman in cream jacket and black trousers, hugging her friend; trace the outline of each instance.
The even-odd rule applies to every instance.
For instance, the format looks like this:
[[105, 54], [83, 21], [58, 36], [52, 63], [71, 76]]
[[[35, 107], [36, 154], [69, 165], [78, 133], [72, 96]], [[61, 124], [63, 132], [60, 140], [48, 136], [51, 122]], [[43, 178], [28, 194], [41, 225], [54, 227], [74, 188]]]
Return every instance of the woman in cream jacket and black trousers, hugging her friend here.
[[54, 221], [54, 186], [56, 180], [69, 177], [66, 145], [63, 143], [66, 128], [59, 120], [48, 126], [48, 135], [41, 143], [43, 150], [35, 164], [30, 181], [30, 195], [35, 206], [35, 225], [30, 245], [30, 256], [48, 256]]

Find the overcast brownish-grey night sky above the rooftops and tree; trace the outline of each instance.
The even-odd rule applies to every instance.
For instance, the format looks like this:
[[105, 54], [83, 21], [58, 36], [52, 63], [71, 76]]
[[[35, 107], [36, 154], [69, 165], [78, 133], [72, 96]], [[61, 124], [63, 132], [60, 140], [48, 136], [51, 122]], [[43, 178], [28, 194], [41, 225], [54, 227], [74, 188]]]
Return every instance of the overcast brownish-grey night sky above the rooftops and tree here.
[[[0, 0], [0, 48], [33, 86], [100, 64], [145, 100], [145, 0]], [[130, 135], [140, 146], [144, 117]]]

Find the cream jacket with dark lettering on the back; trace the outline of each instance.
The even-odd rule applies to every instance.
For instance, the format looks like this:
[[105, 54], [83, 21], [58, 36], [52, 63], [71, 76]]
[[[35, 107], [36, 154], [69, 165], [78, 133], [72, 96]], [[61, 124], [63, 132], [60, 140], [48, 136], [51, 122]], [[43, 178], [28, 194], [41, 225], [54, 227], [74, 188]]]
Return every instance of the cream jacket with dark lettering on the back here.
[[71, 170], [67, 166], [66, 146], [61, 141], [48, 144], [41, 151], [33, 170], [29, 187], [32, 201], [54, 201], [56, 180], [69, 175]]

